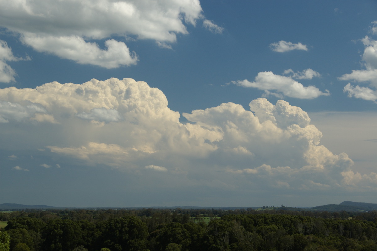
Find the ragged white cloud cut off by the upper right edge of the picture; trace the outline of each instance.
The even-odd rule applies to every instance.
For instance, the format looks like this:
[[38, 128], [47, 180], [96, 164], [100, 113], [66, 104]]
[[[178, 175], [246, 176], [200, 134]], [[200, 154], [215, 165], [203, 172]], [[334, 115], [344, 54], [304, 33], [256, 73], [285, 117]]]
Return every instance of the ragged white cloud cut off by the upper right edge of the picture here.
[[[373, 27], [371, 33], [376, 34], [376, 21], [372, 22]], [[365, 86], [353, 86], [348, 83], [343, 91], [347, 93], [348, 97], [355, 97], [357, 99], [364, 100], [376, 100], [376, 88], [377, 88], [377, 41], [371, 37], [365, 36], [362, 40], [364, 45], [364, 53], [362, 55], [362, 62], [365, 69], [352, 70], [351, 73], [343, 74], [338, 79], [348, 80], [353, 82], [367, 82], [371, 88]]]

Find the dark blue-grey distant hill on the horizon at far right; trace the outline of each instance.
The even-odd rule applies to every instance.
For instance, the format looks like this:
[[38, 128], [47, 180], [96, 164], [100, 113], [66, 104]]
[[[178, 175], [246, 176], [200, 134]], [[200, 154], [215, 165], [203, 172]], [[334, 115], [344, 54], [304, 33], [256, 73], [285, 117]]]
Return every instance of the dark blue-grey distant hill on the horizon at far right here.
[[352, 202], [352, 201], [343, 201], [339, 205], [329, 204], [323, 206], [315, 206], [311, 208], [312, 210], [318, 211], [358, 211], [366, 212], [377, 210], [377, 204], [374, 203], [364, 203], [364, 202]]

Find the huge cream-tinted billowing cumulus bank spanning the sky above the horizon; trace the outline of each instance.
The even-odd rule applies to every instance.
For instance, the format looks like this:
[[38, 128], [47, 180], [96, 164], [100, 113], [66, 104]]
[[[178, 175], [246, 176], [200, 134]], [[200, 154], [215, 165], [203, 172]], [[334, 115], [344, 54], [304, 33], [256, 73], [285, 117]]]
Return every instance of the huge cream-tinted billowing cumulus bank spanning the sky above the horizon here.
[[[162, 91], [133, 79], [4, 88], [0, 100], [8, 111], [0, 148], [11, 141], [14, 149], [46, 149], [57, 168], [74, 162], [149, 177], [141, 172], [148, 169], [161, 171], [162, 183], [232, 191], [260, 184], [279, 191], [375, 187], [374, 174], [359, 175], [347, 154], [320, 145], [322, 133], [307, 112], [284, 100], [183, 113], [190, 123], [179, 122]], [[55, 123], [31, 120], [37, 108]]]

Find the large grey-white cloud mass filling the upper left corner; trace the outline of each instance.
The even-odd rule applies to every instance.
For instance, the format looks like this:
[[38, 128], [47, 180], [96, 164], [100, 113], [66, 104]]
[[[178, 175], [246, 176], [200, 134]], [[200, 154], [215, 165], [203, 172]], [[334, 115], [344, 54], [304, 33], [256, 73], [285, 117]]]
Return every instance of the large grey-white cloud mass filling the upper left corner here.
[[[133, 65], [138, 61], [124, 39], [152, 39], [169, 48], [177, 34], [188, 34], [185, 24], [196, 25], [203, 19], [199, 0], [73, 0], [73, 1], [9, 1], [0, 0], [0, 23], [37, 51], [92, 64], [104, 68]], [[210, 22], [210, 21], [209, 21]], [[221, 28], [209, 23], [207, 28]], [[95, 40], [104, 40], [102, 46]], [[104, 48], [103, 48], [104, 47]], [[0, 60], [0, 70], [14, 72]]]

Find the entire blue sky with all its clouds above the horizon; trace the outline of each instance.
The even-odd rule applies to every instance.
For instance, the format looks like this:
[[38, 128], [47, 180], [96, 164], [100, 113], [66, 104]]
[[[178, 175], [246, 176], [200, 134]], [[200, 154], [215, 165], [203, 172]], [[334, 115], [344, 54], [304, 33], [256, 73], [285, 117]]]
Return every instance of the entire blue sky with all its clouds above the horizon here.
[[0, 0], [0, 203], [377, 203], [374, 0]]

